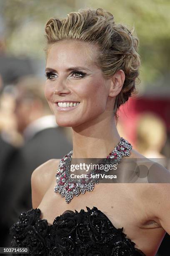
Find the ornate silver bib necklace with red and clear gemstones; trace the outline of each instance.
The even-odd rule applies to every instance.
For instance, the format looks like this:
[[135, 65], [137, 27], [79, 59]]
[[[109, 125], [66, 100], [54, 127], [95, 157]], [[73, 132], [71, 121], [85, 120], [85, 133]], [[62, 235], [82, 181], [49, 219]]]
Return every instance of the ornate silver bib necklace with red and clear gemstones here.
[[[113, 151], [105, 159], [100, 161], [100, 164], [106, 164], [110, 159], [111, 162], [109, 162], [109, 164], [119, 164], [122, 157], [130, 156], [131, 149], [132, 145], [121, 137], [117, 146], [115, 146]], [[57, 174], [55, 175], [57, 179], [57, 185], [55, 186], [54, 191], [59, 193], [62, 197], [65, 197], [67, 204], [71, 202], [74, 196], [84, 194], [86, 191], [92, 191], [95, 187], [95, 184], [99, 183], [99, 179], [92, 178], [92, 175], [98, 172], [98, 170], [95, 168], [92, 170], [92, 172], [90, 172], [90, 174], [87, 174], [86, 178], [81, 178], [78, 181], [77, 179], [72, 179], [70, 177], [72, 153], [73, 151], [70, 151], [62, 159], [60, 159]], [[105, 173], [103, 170], [100, 170], [100, 173], [101, 172]]]

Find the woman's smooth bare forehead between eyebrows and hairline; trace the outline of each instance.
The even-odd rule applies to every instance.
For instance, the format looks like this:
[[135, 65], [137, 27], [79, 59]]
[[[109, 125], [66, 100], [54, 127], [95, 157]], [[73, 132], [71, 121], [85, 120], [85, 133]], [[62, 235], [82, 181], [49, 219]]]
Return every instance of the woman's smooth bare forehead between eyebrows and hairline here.
[[97, 62], [96, 45], [77, 40], [64, 40], [52, 44], [47, 51], [47, 67], [94, 66]]

